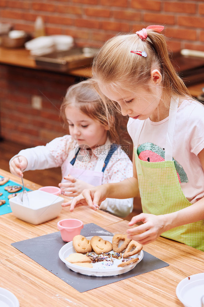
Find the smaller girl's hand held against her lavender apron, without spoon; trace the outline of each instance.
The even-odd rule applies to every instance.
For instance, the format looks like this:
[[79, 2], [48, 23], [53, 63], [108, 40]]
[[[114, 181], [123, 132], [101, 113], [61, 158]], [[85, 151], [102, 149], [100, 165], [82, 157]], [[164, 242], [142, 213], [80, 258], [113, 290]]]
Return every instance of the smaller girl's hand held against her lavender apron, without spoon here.
[[65, 176], [64, 179], [69, 182], [59, 183], [59, 187], [61, 188], [62, 194], [65, 196], [78, 196], [84, 189], [94, 187], [93, 185], [80, 179], [76, 179], [71, 175]]

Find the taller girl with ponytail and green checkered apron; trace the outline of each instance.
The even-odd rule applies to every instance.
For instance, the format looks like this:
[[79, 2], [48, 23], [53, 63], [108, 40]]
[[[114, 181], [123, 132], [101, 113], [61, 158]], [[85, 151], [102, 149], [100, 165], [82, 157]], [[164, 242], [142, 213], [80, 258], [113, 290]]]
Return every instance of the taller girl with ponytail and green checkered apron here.
[[204, 107], [176, 74], [163, 28], [113, 37], [99, 50], [93, 79], [104, 101], [129, 116], [133, 177], [83, 191], [70, 211], [139, 191], [143, 213], [129, 226], [143, 224], [129, 238], [147, 244], [162, 235], [204, 251]]

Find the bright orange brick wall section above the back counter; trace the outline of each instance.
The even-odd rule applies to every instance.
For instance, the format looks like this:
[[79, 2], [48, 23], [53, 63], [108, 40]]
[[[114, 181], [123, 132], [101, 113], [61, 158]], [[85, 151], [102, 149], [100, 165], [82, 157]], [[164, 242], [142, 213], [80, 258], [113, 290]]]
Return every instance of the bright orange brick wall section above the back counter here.
[[77, 45], [100, 46], [119, 32], [165, 25], [173, 50], [204, 50], [203, 0], [0, 0], [0, 21], [33, 32], [42, 16], [46, 34], [68, 34]]

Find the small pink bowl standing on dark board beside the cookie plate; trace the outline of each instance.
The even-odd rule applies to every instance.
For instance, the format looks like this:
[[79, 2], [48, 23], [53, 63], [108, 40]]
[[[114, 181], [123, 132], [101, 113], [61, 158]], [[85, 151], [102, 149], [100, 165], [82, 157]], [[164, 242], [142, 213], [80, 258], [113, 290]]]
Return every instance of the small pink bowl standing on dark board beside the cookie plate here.
[[62, 240], [64, 242], [70, 242], [75, 235], [80, 235], [83, 222], [76, 219], [65, 219], [57, 223], [57, 228], [60, 230]]

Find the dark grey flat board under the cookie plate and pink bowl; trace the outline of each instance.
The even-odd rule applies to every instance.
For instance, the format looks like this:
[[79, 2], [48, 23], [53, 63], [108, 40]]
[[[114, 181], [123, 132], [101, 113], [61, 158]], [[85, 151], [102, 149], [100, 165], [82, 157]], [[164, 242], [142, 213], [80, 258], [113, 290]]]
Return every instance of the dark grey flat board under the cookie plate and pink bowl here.
[[[99, 227], [93, 223], [85, 224], [81, 230], [81, 235], [84, 235], [85, 237], [93, 235], [113, 236], [111, 232], [106, 231], [104, 228]], [[65, 263], [61, 261], [58, 253], [61, 247], [65, 244], [66, 243], [61, 239], [60, 231], [58, 231], [33, 239], [12, 243], [11, 245], [62, 279], [64, 282], [68, 283], [79, 292], [85, 292], [104, 285], [108, 285], [112, 282], [117, 282], [122, 279], [130, 278], [132, 276], [169, 266], [168, 263], [144, 251], [144, 257], [141, 262], [139, 262], [134, 269], [127, 273], [106, 277], [87, 276], [70, 270], [65, 265]]]

